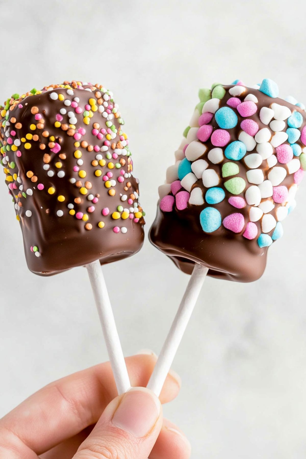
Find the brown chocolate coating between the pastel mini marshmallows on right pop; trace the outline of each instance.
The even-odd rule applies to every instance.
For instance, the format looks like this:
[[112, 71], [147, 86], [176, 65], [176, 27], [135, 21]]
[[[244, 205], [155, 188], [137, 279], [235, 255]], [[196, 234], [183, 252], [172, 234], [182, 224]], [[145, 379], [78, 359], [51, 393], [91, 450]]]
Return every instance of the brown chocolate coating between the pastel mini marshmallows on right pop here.
[[[226, 92], [220, 101], [219, 108], [228, 106], [227, 101], [229, 98], [233, 97], [233, 95], [229, 94], [228, 90], [232, 87], [233, 85], [223, 86]], [[271, 98], [261, 91], [251, 88], [246, 88], [246, 91], [243, 93], [243, 95], [238, 95], [235, 97], [238, 97], [242, 102], [248, 94], [256, 95], [258, 102], [256, 103], [256, 113], [252, 116], [248, 116], [247, 118], [256, 121], [256, 123], [258, 123], [259, 129], [269, 128], [269, 124], [263, 124], [261, 122], [259, 114], [262, 107], [270, 107], [273, 103], [289, 107], [291, 112], [300, 112], [303, 117], [303, 122], [299, 130], [301, 131], [305, 126], [306, 114], [305, 111], [302, 110], [299, 106], [292, 105], [282, 99]], [[240, 124], [244, 119], [246, 119], [240, 116], [236, 108], [233, 108], [233, 111], [238, 117], [238, 123], [234, 128], [226, 129], [230, 134], [230, 142], [239, 140], [239, 134], [242, 132]], [[198, 116], [200, 116], [200, 113], [198, 113]], [[220, 129], [215, 116], [213, 116], [211, 121], [207, 124], [212, 126], [212, 133], [216, 129]], [[283, 131], [286, 132], [288, 127], [289, 126], [286, 121]], [[272, 134], [274, 133], [272, 132]], [[188, 144], [188, 142], [186, 143]], [[288, 141], [283, 143], [289, 145]], [[298, 140], [296, 143], [300, 145], [301, 148], [304, 148], [304, 145], [300, 142], [300, 140]], [[214, 164], [207, 157], [209, 151], [212, 148], [216, 148], [216, 144], [213, 145], [211, 143], [211, 136], [207, 141], [202, 142], [202, 144], [207, 147], [207, 150], [196, 160], [205, 159], [208, 162], [208, 168], [216, 171], [217, 175], [219, 176], [220, 181], [216, 186], [222, 188], [225, 192], [225, 198], [223, 201], [214, 203], [213, 207], [220, 212], [222, 221], [226, 216], [232, 213], [236, 212], [242, 214], [245, 219], [243, 229], [239, 231], [239, 233], [234, 233], [233, 231], [225, 228], [223, 224], [221, 224], [217, 230], [211, 233], [204, 232], [200, 225], [200, 213], [206, 207], [211, 207], [211, 205], [207, 204], [205, 201], [205, 194], [208, 188], [203, 185], [202, 178], [200, 178], [197, 179], [196, 182], [192, 185], [190, 192], [195, 188], [200, 188], [202, 191], [204, 203], [202, 205], [194, 205], [188, 202], [187, 207], [181, 210], [178, 209], [177, 203], [174, 203], [171, 211], [163, 211], [158, 205], [156, 219], [150, 229], [150, 241], [154, 246], [161, 250], [161, 252], [170, 257], [176, 266], [184, 273], [191, 274], [194, 268], [194, 264], [201, 263], [209, 268], [208, 275], [218, 279], [234, 280], [239, 282], [251, 282], [257, 280], [261, 277], [265, 270], [268, 247], [260, 247], [257, 243], [257, 237], [250, 240], [243, 236], [246, 225], [250, 221], [250, 208], [253, 206], [246, 203], [244, 208], [236, 209], [233, 207], [228, 202], [228, 199], [233, 196], [233, 194], [231, 194], [224, 186], [224, 183], [228, 179], [231, 179], [233, 176], [243, 178], [245, 180], [246, 187], [244, 192], [240, 193], [238, 196], [245, 198], [245, 191], [251, 185], [253, 185], [252, 183], [248, 182], [246, 176], [246, 173], [250, 170], [250, 168], [247, 167], [245, 158], [251, 153], [256, 153], [256, 148], [252, 151], [247, 151], [245, 157], [239, 161], [228, 160], [226, 157], [224, 157], [222, 162]], [[222, 147], [223, 153], [225, 148], [226, 146]], [[273, 148], [273, 154], [274, 153], [275, 149]], [[184, 157], [184, 153], [182, 154], [182, 157]], [[238, 164], [239, 172], [238, 174], [231, 174], [230, 176], [223, 177], [222, 166], [228, 161]], [[277, 166], [285, 168], [287, 174], [284, 181], [280, 185], [285, 185], [288, 189], [290, 189], [292, 185], [297, 183], [296, 177], [294, 174], [289, 174], [286, 164], [277, 163]], [[261, 165], [257, 168], [262, 170], [264, 180], [267, 180], [267, 175], [271, 171], [267, 160], [264, 159]], [[301, 171], [301, 174], [302, 173], [303, 172]], [[179, 190], [184, 190], [184, 188], [181, 187], [181, 189], [179, 189], [178, 187], [178, 191]], [[177, 191], [174, 193], [171, 191], [168, 193], [168, 195], [175, 197], [176, 193]], [[272, 200], [272, 198], [269, 199]], [[273, 215], [276, 221], [278, 221], [278, 207], [286, 204], [289, 206], [289, 204], [285, 202], [282, 204], [274, 202], [275, 207], [269, 213]], [[261, 233], [261, 219], [254, 223], [257, 226], [259, 235]], [[273, 230], [266, 234], [272, 236]]]

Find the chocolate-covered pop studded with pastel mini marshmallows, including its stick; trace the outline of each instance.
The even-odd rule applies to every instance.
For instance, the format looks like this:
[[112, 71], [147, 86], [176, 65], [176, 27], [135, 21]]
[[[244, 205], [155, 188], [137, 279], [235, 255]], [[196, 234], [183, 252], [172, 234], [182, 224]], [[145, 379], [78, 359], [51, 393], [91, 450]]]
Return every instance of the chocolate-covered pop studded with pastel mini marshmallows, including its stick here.
[[[192, 298], [184, 297], [161, 353], [164, 369], [206, 274], [241, 282], [263, 274], [268, 247], [283, 235], [306, 169], [305, 106], [279, 99], [272, 80], [252, 88], [239, 80], [214, 84], [199, 96], [159, 188], [150, 229], [150, 241], [182, 271], [193, 272], [185, 294]], [[160, 371], [157, 365], [151, 388]]]

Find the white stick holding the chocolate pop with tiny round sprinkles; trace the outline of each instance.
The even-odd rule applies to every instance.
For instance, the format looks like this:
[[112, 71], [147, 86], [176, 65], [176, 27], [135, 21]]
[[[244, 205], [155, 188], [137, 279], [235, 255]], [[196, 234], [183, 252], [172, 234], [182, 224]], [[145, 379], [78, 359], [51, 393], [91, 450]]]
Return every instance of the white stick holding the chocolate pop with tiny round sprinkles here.
[[118, 394], [121, 395], [131, 388], [128, 370], [125, 364], [120, 339], [111, 309], [111, 302], [107, 293], [106, 283], [99, 260], [86, 265], [90, 284], [93, 289], [95, 303], [97, 305], [103, 335], [106, 342], [111, 369], [114, 374]]

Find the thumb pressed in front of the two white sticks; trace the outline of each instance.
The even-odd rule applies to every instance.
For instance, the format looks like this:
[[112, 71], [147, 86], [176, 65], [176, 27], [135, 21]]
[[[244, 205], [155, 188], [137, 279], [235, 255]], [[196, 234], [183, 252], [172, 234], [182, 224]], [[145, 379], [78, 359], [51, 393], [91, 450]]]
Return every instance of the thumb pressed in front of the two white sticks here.
[[73, 459], [147, 459], [161, 425], [158, 397], [133, 387], [111, 401]]

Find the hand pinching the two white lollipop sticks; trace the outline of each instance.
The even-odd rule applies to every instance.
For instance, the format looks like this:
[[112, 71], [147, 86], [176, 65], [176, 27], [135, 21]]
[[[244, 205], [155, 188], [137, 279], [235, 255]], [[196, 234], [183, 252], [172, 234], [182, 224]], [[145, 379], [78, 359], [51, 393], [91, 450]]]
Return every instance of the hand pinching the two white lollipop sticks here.
[[188, 459], [184, 434], [162, 418], [178, 395], [170, 373], [159, 399], [146, 386], [156, 357], [126, 359], [132, 390], [116, 397], [110, 364], [55, 381], [0, 420], [2, 459]]

